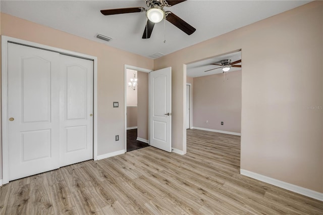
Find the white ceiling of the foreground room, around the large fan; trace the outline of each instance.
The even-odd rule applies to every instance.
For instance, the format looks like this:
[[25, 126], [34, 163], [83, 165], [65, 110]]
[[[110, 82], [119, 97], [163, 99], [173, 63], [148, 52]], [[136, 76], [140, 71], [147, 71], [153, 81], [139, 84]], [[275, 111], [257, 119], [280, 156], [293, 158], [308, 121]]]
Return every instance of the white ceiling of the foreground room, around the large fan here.
[[[259, 20], [309, 3], [310, 1], [197, 1], [189, 0], [171, 11], [197, 30], [187, 35], [166, 21], [155, 24], [150, 39], [142, 39], [145, 13], [103, 16], [102, 9], [146, 7], [139, 1], [3, 1], [1, 12], [59, 29], [80, 37], [149, 57], [164, 55]], [[97, 33], [112, 37], [97, 39]], [[150, 57], [154, 58], [154, 57]]]

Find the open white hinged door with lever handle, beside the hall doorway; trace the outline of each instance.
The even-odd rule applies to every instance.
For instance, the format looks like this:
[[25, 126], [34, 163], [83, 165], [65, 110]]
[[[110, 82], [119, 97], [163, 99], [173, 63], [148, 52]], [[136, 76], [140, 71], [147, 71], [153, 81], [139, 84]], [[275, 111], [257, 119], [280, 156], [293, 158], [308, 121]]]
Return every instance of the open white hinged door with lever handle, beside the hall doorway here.
[[149, 73], [150, 145], [172, 151], [172, 68]]

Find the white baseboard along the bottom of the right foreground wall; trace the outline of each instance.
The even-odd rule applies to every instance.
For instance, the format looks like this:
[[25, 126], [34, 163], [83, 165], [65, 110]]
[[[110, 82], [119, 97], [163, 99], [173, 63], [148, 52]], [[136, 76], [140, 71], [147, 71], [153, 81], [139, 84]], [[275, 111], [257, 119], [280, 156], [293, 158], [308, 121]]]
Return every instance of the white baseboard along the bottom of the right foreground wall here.
[[253, 173], [248, 170], [240, 169], [240, 174], [244, 175], [244, 176], [248, 176], [248, 177], [256, 179], [256, 180], [259, 180], [259, 181], [262, 181], [262, 182], [265, 182], [265, 183], [268, 183], [268, 184], [271, 184], [271, 185], [275, 185], [275, 186], [283, 188], [285, 190], [289, 190], [289, 191], [292, 191], [292, 192], [295, 192], [295, 193], [298, 193], [298, 194], [301, 194], [301, 195], [304, 195], [304, 196], [307, 196], [310, 198], [317, 199], [319, 201], [323, 201], [323, 193], [319, 193], [319, 192], [316, 192], [316, 191], [313, 191], [313, 190], [310, 190], [310, 189], [307, 189], [304, 187], [300, 187], [300, 186], [290, 184], [290, 183], [287, 183], [284, 181], [280, 181], [280, 180], [273, 179], [273, 178], [270, 178], [267, 176], [263, 176], [258, 173]]

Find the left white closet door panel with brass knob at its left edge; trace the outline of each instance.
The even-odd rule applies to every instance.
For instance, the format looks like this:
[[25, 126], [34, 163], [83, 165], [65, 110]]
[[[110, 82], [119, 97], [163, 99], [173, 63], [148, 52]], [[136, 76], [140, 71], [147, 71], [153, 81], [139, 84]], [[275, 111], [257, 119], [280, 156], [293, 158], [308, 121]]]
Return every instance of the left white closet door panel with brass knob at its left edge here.
[[59, 168], [59, 58], [8, 44], [9, 180]]

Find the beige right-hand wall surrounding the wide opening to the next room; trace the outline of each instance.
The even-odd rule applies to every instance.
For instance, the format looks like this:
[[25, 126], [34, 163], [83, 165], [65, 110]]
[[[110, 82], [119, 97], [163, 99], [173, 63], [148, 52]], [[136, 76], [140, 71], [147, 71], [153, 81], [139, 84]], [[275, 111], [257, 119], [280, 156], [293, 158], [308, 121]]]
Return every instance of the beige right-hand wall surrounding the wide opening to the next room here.
[[184, 64], [242, 49], [241, 169], [323, 192], [322, 110], [306, 109], [323, 105], [322, 7], [315, 1], [156, 59], [154, 69], [173, 69], [173, 147], [186, 145]]

